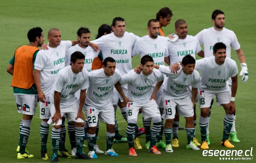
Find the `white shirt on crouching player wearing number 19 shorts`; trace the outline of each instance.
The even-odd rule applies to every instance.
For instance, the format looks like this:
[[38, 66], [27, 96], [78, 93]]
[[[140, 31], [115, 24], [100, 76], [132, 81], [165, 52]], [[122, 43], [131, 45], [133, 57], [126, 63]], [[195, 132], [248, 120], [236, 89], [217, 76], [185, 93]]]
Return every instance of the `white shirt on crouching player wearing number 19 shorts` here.
[[163, 86], [163, 95], [169, 97], [169, 99], [185, 98], [189, 96], [188, 86], [193, 88], [200, 86], [200, 75], [196, 70], [192, 74], [185, 74], [182, 68], [177, 74], [173, 74], [168, 66], [160, 66], [159, 70], [168, 76]]

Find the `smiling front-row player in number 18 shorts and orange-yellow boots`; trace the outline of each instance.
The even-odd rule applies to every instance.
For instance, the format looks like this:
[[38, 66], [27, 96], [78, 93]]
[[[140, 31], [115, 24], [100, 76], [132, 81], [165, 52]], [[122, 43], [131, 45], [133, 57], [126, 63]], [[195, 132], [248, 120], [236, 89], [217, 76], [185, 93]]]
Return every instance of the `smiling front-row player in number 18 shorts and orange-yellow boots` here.
[[[224, 130], [221, 145], [233, 148], [228, 137], [232, 128], [234, 119], [235, 97], [237, 90], [236, 62], [226, 54], [226, 45], [224, 43], [215, 43], [212, 57], [206, 57], [196, 61], [196, 70], [201, 71], [201, 86], [198, 90], [201, 117], [199, 120], [201, 129], [201, 149], [209, 149], [207, 143], [207, 124], [209, 107], [214, 96], [218, 99], [217, 106], [222, 105], [226, 114], [224, 118]], [[231, 91], [227, 80], [231, 77]]]

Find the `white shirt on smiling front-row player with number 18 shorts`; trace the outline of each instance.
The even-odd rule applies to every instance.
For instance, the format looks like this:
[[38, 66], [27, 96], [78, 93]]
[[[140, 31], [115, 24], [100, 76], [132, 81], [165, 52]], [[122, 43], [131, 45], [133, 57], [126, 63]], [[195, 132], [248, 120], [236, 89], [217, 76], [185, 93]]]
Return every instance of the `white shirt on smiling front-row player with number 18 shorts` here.
[[220, 93], [230, 90], [227, 80], [238, 73], [236, 62], [226, 57], [224, 64], [218, 65], [215, 57], [196, 60], [195, 69], [201, 71], [201, 87], [210, 93]]

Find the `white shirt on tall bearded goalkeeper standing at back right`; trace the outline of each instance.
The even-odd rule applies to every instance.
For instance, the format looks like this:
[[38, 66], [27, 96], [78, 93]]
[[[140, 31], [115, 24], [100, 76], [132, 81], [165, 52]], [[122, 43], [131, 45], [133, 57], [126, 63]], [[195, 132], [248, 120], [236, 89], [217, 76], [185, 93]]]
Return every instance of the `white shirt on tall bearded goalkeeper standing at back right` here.
[[227, 46], [227, 57], [231, 58], [231, 47], [234, 50], [240, 49], [240, 44], [236, 34], [226, 28], [216, 31], [213, 27], [200, 31], [195, 37], [198, 38], [200, 44], [204, 44], [204, 57], [211, 57], [213, 54], [213, 46], [215, 43], [222, 42]]

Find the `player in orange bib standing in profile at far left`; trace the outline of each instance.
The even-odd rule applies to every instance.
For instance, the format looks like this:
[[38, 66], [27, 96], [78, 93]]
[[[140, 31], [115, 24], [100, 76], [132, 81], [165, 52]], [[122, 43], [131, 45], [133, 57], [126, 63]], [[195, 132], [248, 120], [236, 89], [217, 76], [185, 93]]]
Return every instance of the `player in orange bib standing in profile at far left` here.
[[20, 138], [17, 147], [17, 159], [34, 157], [26, 150], [30, 134], [30, 124], [38, 102], [38, 92], [32, 75], [38, 46], [44, 43], [44, 33], [40, 27], [29, 29], [29, 44], [16, 49], [14, 57], [9, 61], [7, 72], [11, 74], [13, 93], [18, 113], [22, 113], [20, 122]]

